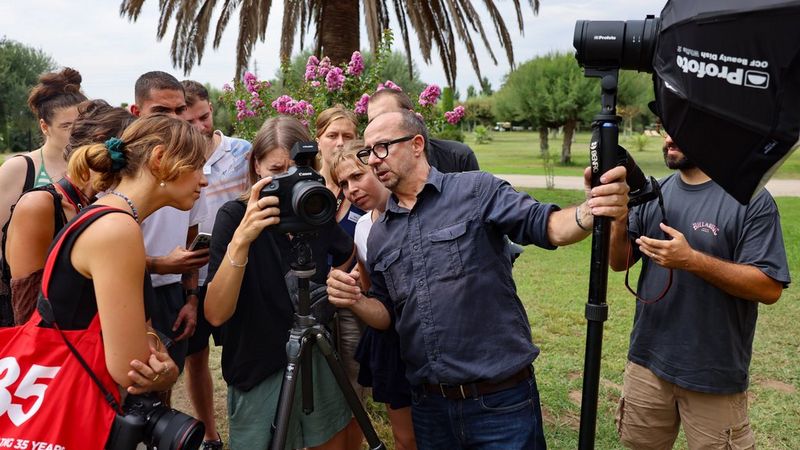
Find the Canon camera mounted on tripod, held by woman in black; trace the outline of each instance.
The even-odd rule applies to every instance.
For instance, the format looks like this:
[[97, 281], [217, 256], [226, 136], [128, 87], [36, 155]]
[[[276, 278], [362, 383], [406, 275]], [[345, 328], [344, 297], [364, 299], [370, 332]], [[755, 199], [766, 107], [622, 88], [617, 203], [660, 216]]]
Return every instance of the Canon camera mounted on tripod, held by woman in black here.
[[325, 178], [311, 166], [317, 156], [316, 142], [298, 142], [292, 147], [295, 166], [280, 175], [263, 189], [259, 198], [278, 197], [281, 221], [272, 227], [280, 233], [314, 231], [336, 216], [336, 199], [327, 187]]

